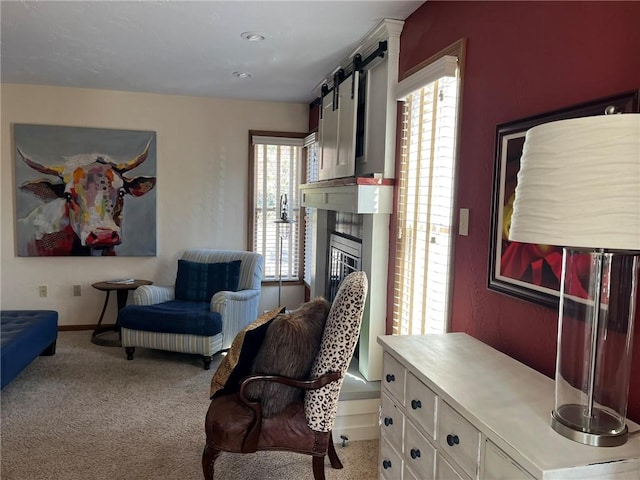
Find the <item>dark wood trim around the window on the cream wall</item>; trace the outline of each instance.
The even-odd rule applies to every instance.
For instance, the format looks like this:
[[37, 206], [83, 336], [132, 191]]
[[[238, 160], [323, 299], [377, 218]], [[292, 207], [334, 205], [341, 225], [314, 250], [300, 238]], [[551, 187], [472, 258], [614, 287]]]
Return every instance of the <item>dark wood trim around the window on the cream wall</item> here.
[[[248, 170], [248, 195], [249, 195], [249, 208], [247, 215], [247, 251], [253, 252], [253, 236], [254, 236], [254, 206], [255, 206], [255, 185], [254, 185], [254, 176], [255, 176], [255, 150], [254, 150], [254, 137], [262, 137], [260, 140], [273, 140], [275, 144], [278, 144], [278, 138], [295, 138], [300, 139], [302, 146], [302, 142], [304, 142], [304, 138], [308, 135], [308, 132], [276, 132], [270, 130], [249, 130], [249, 141], [248, 141], [248, 159], [249, 159], [249, 170]], [[296, 145], [297, 146], [297, 145]], [[304, 165], [304, 148], [303, 155], [301, 155], [300, 161], [302, 162], [299, 165], [301, 169], [301, 178], [300, 182], [304, 182], [304, 178], [306, 175], [306, 171], [303, 168]], [[292, 232], [295, 231], [296, 235], [298, 235], [298, 272], [300, 272], [298, 280], [282, 280], [283, 284], [287, 285], [302, 285], [303, 282], [303, 266], [304, 266], [304, 208], [302, 205], [298, 206], [298, 218], [300, 219], [297, 222], [295, 228], [291, 228]], [[302, 235], [302, 237], [301, 237]], [[262, 280], [262, 284], [269, 285], [278, 285], [278, 280]]]

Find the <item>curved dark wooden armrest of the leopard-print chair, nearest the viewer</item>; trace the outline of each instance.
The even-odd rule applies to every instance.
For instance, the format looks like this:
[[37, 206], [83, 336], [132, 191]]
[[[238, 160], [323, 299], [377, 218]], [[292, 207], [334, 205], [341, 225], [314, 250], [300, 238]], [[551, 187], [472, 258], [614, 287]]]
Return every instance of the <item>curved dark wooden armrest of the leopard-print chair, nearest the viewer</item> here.
[[260, 401], [251, 401], [245, 396], [245, 389], [251, 382], [267, 381], [277, 382], [289, 385], [291, 387], [302, 388], [304, 390], [316, 390], [322, 388], [325, 385], [335, 382], [342, 377], [340, 372], [330, 372], [322, 375], [321, 377], [313, 378], [311, 380], [296, 380], [295, 378], [284, 377], [281, 375], [249, 375], [244, 377], [240, 382], [240, 394], [239, 398], [246, 406], [253, 410], [253, 422], [249, 427], [249, 431], [242, 442], [242, 453], [255, 452], [258, 446], [258, 440], [260, 439], [260, 430], [262, 428], [262, 407]]

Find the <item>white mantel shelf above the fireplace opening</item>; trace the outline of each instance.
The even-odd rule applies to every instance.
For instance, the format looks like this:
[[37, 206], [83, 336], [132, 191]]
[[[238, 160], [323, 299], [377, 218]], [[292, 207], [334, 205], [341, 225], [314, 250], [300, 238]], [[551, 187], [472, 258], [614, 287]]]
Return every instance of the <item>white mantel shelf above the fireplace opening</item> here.
[[300, 185], [302, 206], [361, 214], [393, 211], [393, 179], [349, 177]]

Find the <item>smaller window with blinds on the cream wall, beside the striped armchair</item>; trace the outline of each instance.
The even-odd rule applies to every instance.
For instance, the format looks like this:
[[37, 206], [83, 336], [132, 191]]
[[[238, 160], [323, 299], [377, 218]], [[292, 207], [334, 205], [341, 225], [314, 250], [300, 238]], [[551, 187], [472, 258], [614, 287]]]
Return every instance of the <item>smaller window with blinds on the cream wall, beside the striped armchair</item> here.
[[[300, 169], [304, 134], [249, 132], [250, 249], [264, 256], [264, 281], [300, 280]], [[291, 223], [278, 223], [286, 209]]]

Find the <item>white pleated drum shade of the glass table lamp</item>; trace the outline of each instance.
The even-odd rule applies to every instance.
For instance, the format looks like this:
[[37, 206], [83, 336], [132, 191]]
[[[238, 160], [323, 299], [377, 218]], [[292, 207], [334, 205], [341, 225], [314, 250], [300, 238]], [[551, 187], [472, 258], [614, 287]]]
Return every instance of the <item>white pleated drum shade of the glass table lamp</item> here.
[[640, 114], [528, 130], [509, 240], [640, 251]]

